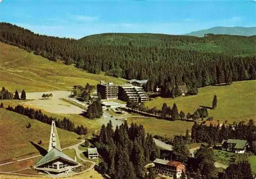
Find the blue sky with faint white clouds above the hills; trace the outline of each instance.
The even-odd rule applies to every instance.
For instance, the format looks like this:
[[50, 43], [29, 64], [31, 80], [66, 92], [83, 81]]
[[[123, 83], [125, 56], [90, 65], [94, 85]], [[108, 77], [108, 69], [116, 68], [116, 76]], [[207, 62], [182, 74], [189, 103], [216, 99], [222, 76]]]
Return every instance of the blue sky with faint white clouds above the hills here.
[[0, 21], [58, 37], [108, 32], [185, 34], [216, 26], [256, 26], [256, 0], [0, 2]]

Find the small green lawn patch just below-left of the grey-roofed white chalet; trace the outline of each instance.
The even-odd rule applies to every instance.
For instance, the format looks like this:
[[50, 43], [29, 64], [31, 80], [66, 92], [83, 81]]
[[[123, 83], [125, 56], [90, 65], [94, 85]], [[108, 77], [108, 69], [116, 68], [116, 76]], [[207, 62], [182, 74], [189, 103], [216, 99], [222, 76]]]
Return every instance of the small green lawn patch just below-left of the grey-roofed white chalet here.
[[229, 163], [236, 162], [237, 155], [233, 152], [214, 149], [214, 154], [216, 162], [219, 162], [221, 164], [229, 165]]

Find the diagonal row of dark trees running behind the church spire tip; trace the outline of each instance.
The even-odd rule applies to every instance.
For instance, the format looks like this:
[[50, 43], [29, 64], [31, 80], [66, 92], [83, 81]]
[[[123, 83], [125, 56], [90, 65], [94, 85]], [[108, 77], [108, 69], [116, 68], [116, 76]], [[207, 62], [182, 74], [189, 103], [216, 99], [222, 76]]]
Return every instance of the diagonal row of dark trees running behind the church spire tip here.
[[52, 117], [52, 116], [49, 117], [46, 114], [43, 114], [41, 110], [25, 108], [21, 105], [17, 105], [15, 108], [8, 106], [8, 108], [6, 109], [9, 111], [16, 112], [18, 114], [28, 116], [30, 119], [36, 119], [48, 124], [51, 124], [52, 120], [55, 120], [56, 126], [59, 127], [60, 129], [70, 131], [70, 132], [75, 132], [78, 135], [87, 134], [87, 127], [84, 127], [83, 125], [75, 127], [74, 122], [72, 122], [70, 119], [67, 119], [66, 117], [60, 120], [60, 119], [57, 119], [56, 117]]

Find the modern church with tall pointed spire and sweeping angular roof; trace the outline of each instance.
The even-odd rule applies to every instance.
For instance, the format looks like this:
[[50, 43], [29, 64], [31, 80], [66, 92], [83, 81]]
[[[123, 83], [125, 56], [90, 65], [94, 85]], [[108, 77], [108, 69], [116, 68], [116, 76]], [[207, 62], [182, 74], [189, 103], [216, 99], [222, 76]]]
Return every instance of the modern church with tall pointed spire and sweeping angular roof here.
[[74, 160], [61, 152], [58, 133], [53, 120], [48, 153], [35, 164], [34, 168], [46, 173], [68, 173], [79, 165], [76, 158]]

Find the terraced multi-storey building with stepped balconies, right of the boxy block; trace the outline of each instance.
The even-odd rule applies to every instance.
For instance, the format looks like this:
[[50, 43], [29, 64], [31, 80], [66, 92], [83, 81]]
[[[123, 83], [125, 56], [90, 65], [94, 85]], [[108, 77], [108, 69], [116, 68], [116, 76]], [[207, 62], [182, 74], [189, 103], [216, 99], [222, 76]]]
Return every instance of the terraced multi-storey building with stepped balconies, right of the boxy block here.
[[145, 103], [148, 101], [148, 96], [146, 95], [144, 89], [142, 87], [133, 86], [132, 84], [119, 86], [118, 98], [123, 101], [130, 99], [138, 103]]

